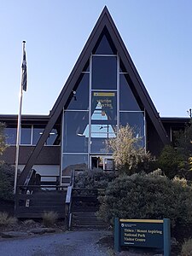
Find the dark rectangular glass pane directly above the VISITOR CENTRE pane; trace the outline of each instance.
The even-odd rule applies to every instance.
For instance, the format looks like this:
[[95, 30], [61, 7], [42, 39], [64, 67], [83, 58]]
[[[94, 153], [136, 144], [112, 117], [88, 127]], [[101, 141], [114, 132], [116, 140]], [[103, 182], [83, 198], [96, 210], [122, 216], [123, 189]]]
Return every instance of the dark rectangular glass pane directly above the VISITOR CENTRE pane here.
[[92, 89], [117, 89], [117, 58], [114, 56], [93, 56]]

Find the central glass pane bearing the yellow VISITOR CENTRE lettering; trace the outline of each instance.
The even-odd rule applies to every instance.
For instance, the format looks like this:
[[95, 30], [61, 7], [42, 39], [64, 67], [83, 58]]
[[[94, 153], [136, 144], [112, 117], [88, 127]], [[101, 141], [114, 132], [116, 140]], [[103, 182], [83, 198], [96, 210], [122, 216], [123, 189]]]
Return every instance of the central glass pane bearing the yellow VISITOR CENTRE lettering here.
[[115, 91], [92, 91], [92, 115], [95, 120], [117, 119], [117, 94]]

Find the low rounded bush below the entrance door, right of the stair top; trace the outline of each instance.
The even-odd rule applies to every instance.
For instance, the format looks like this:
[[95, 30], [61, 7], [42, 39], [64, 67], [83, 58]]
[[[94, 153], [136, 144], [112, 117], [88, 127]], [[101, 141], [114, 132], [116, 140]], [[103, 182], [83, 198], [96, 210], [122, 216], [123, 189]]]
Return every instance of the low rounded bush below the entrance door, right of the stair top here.
[[115, 177], [115, 172], [105, 172], [95, 168], [79, 173], [75, 177], [74, 186], [79, 189], [106, 189], [108, 183]]

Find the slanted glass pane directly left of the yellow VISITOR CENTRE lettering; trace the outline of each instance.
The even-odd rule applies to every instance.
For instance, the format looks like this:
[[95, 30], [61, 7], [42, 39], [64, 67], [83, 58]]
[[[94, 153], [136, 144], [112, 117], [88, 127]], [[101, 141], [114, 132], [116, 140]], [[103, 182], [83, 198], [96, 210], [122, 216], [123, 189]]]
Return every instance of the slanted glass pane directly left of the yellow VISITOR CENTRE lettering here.
[[89, 108], [90, 74], [81, 74], [79, 82], [73, 88], [65, 109], [86, 110]]

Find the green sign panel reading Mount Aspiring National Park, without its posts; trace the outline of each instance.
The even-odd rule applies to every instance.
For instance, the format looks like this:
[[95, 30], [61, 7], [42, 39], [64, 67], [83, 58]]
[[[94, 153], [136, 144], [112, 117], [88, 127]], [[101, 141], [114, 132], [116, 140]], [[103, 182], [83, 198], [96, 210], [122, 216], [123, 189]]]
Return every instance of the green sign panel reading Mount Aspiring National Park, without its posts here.
[[119, 219], [120, 246], [163, 247], [163, 220]]

